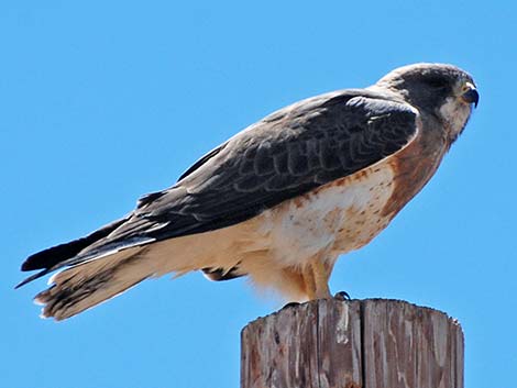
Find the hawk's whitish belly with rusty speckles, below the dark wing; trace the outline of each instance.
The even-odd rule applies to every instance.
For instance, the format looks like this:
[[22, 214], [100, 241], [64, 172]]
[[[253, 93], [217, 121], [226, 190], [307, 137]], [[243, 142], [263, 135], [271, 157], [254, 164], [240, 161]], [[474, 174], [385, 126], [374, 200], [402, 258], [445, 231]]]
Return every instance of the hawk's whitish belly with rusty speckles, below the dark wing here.
[[393, 178], [388, 163], [377, 164], [262, 213], [270, 253], [285, 266], [302, 266], [365, 245], [391, 220], [383, 208]]

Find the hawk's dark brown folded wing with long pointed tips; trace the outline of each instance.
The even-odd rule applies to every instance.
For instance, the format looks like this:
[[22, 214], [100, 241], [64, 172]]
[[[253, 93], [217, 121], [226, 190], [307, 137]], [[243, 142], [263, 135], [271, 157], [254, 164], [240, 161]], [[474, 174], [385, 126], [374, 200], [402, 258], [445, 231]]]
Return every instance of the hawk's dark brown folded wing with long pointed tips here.
[[43, 270], [22, 284], [62, 267], [251, 219], [402, 149], [418, 131], [417, 115], [413, 107], [367, 90], [287, 107], [205, 155], [169, 189], [143, 197], [127, 218], [29, 257], [23, 270]]

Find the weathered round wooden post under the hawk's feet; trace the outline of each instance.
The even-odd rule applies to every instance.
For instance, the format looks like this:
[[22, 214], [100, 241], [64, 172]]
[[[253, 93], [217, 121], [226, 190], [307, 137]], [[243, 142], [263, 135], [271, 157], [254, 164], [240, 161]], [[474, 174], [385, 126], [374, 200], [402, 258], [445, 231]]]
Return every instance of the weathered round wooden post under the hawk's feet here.
[[241, 344], [241, 388], [463, 388], [458, 321], [398, 300], [288, 306]]

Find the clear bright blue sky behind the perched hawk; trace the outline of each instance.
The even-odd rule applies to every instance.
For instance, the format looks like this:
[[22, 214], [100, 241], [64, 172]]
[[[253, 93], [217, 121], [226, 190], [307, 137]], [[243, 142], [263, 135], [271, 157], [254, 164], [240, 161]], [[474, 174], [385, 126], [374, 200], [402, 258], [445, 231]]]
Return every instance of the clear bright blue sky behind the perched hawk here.
[[516, 15], [476, 0], [2, 1], [0, 387], [238, 387], [240, 330], [279, 307], [245, 280], [164, 277], [55, 323], [31, 302], [44, 280], [13, 290], [21, 262], [123, 215], [263, 115], [415, 62], [469, 70], [480, 106], [331, 287], [448, 312], [465, 332], [466, 386], [509, 386]]

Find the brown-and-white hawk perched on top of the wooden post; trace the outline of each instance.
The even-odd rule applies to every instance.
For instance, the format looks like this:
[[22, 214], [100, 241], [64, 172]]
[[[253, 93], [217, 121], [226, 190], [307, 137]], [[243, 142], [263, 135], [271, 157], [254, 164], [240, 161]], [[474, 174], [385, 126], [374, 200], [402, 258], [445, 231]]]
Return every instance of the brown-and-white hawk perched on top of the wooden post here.
[[140, 281], [250, 276], [288, 301], [331, 298], [338, 256], [375, 237], [427, 184], [477, 106], [452, 65], [397, 68], [365, 89], [280, 109], [210, 151], [91, 234], [30, 256], [61, 269], [35, 301], [63, 320]]

